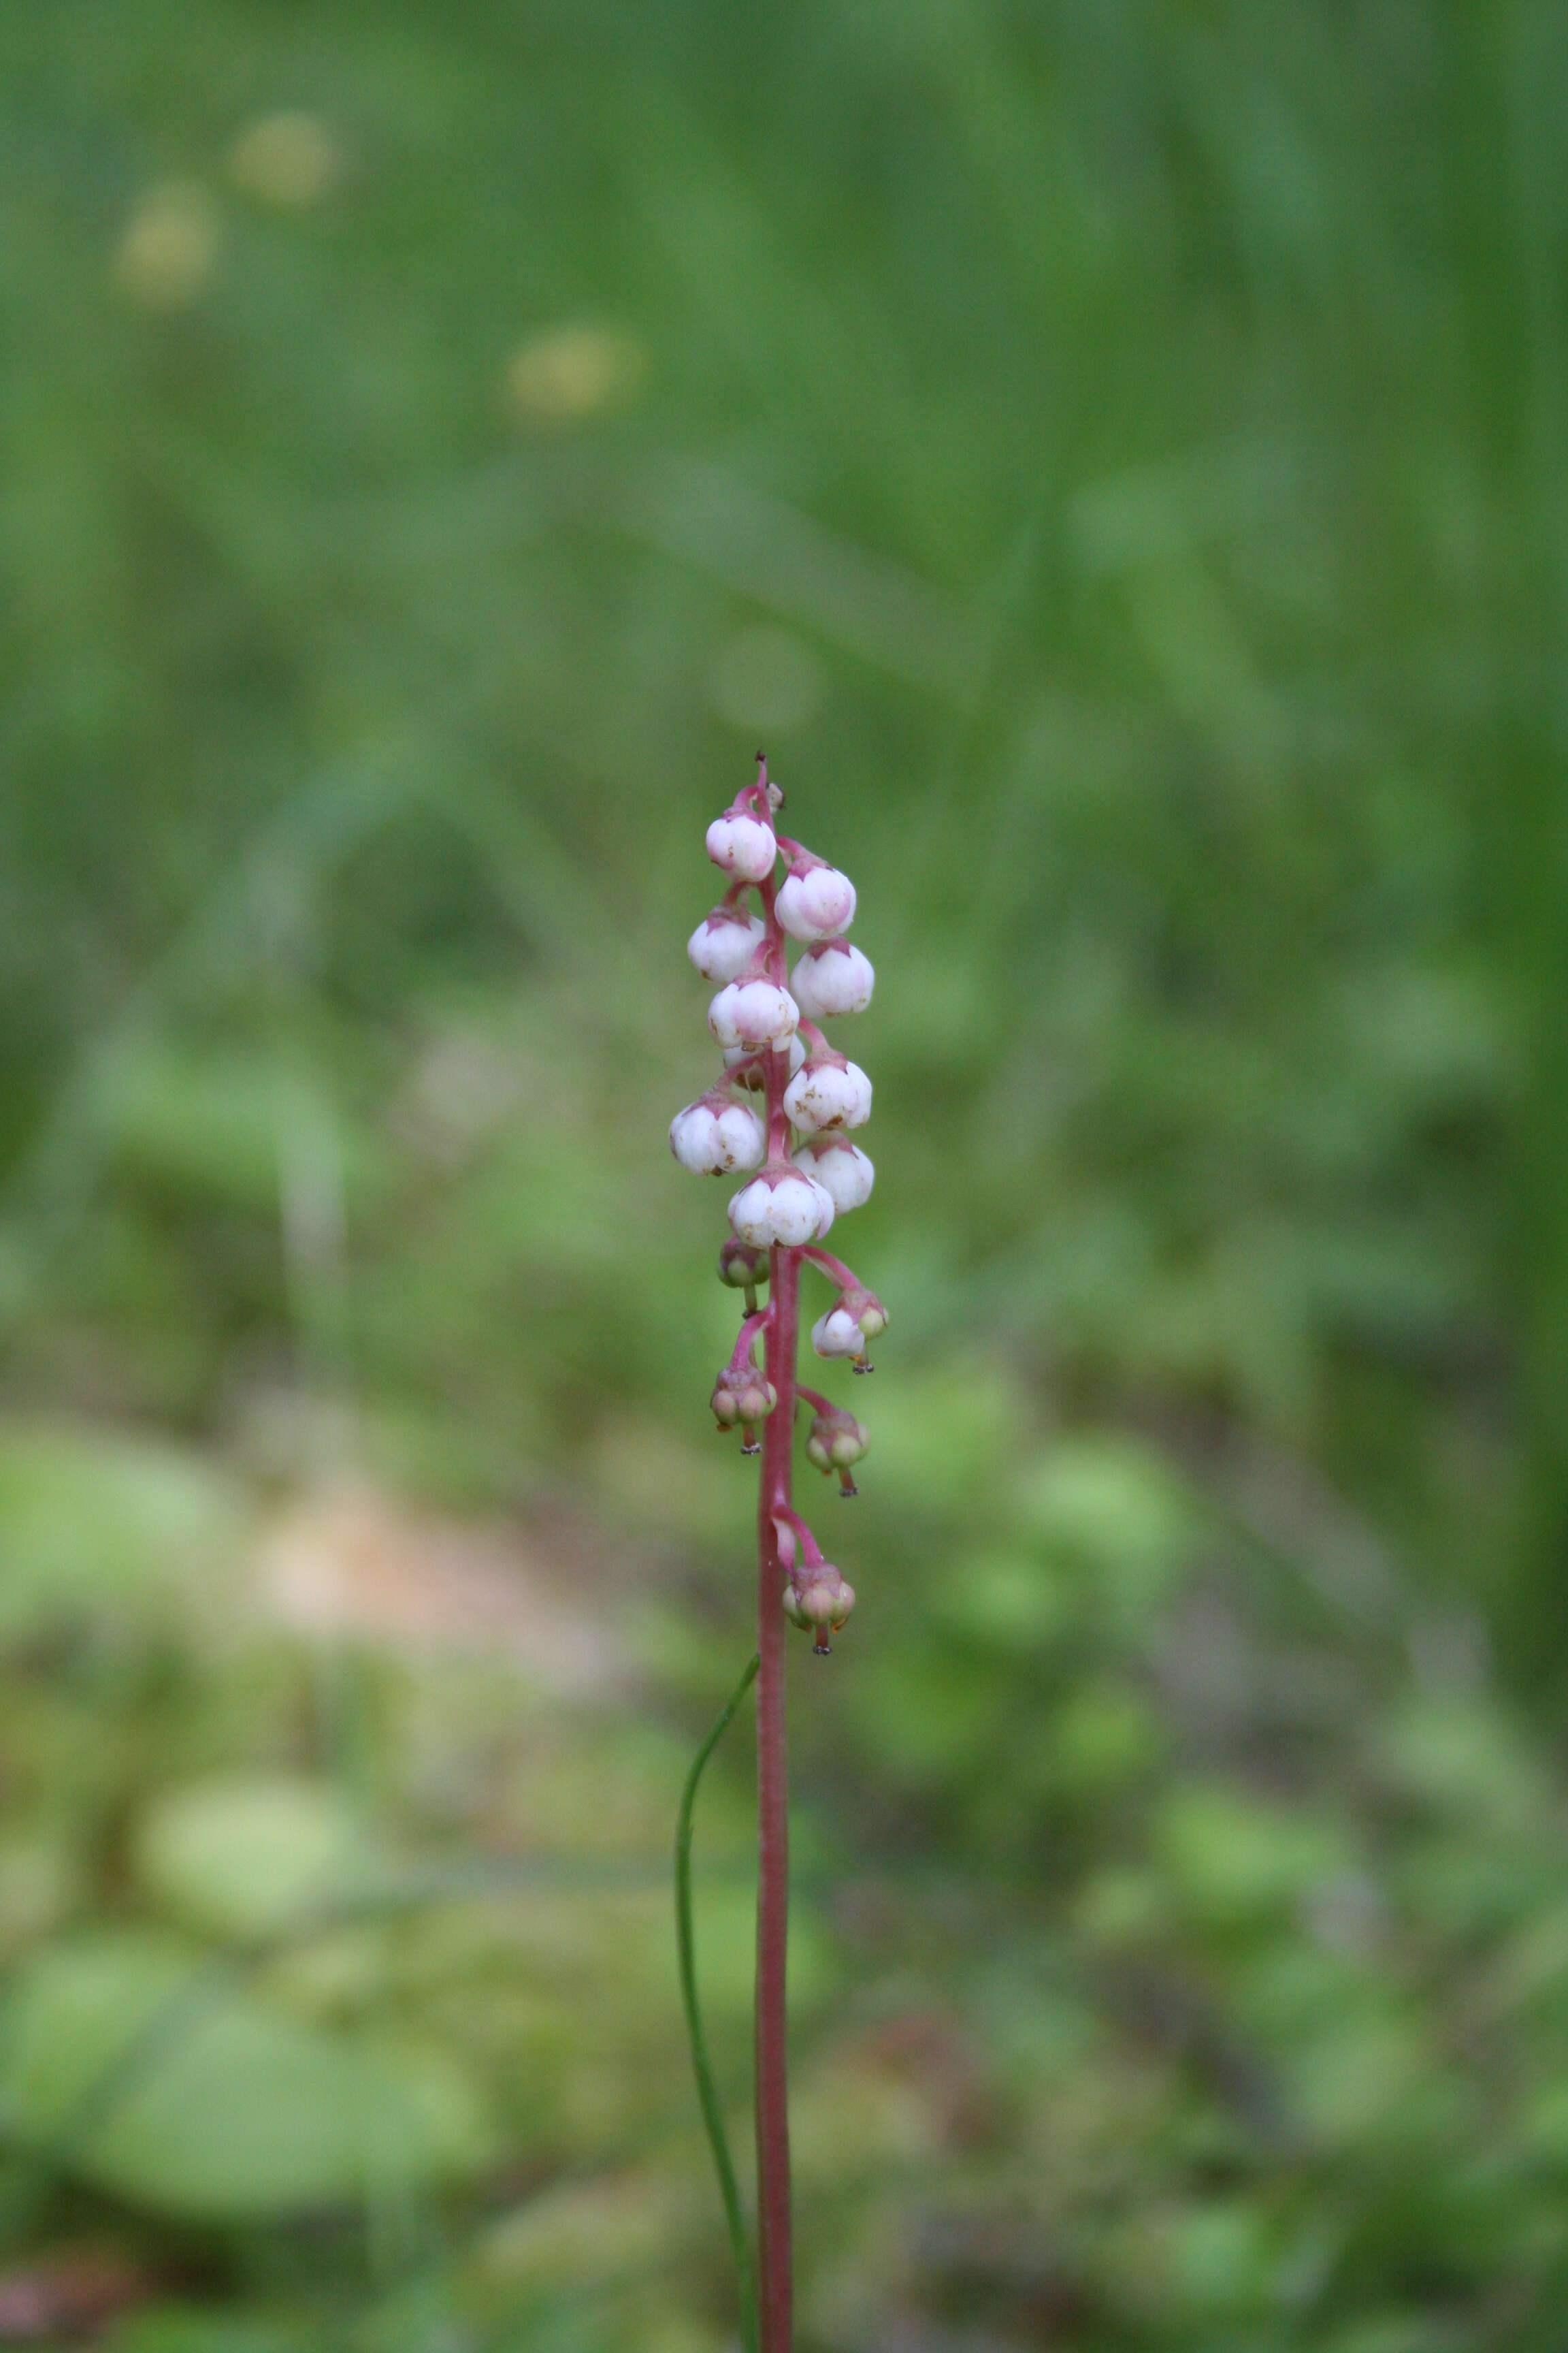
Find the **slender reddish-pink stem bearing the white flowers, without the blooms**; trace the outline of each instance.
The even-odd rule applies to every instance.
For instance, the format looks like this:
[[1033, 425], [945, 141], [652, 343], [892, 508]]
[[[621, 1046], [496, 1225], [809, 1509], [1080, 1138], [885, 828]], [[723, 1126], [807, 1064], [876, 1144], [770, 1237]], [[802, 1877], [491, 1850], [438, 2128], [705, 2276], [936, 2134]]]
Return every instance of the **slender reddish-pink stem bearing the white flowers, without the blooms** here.
[[[773, 887], [762, 887], [769, 951], [783, 974]], [[783, 1122], [790, 1056], [766, 1054], [769, 1134]], [[790, 2092], [785, 2054], [785, 1960], [790, 1937], [790, 1814], [785, 1769], [783, 1562], [773, 1513], [790, 1511], [795, 1457], [795, 1355], [799, 1348], [799, 1249], [769, 1257], [764, 1369], [778, 1405], [762, 1424], [757, 1494], [757, 2318], [762, 2353], [790, 2353], [795, 2261], [790, 2247]]]

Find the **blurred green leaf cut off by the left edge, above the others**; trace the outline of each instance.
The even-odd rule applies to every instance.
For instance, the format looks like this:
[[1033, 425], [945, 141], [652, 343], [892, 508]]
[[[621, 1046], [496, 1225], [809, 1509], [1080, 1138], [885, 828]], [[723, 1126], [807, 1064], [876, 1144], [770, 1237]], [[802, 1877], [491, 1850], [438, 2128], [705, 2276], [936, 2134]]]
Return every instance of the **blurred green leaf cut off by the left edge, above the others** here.
[[0, 1525], [5, 1642], [87, 1614], [216, 1600], [244, 1508], [219, 1471], [179, 1447], [31, 1424], [0, 1433]]

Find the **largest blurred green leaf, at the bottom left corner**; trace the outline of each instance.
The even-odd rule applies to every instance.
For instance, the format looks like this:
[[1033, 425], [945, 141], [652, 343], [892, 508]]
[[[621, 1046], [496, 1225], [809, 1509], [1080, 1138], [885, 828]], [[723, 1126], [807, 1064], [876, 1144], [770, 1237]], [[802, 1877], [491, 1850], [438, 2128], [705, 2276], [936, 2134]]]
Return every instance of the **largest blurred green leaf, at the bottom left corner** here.
[[0, 2113], [94, 2188], [207, 2224], [407, 2193], [487, 2148], [442, 2054], [301, 2026], [139, 1929], [21, 1974], [0, 2012]]

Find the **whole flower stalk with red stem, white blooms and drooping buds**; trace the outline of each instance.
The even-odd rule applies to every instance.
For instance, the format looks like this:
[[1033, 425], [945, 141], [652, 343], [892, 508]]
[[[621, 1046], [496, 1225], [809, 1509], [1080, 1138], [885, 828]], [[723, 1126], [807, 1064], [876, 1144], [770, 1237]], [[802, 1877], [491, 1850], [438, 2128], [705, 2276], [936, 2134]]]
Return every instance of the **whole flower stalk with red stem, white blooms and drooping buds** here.
[[[743, 1452], [762, 1452], [757, 1497], [757, 2287], [759, 2353], [790, 2353], [790, 2118], [785, 2082], [785, 1624], [806, 1628], [827, 1654], [830, 1633], [849, 1619], [856, 1593], [823, 1560], [795, 1511], [795, 1417], [813, 1412], [806, 1457], [837, 1471], [853, 1494], [851, 1466], [867, 1449], [865, 1428], [797, 1379], [799, 1268], [818, 1266], [837, 1299], [813, 1327], [820, 1355], [844, 1355], [870, 1372], [865, 1346], [886, 1329], [886, 1311], [842, 1259], [820, 1249], [835, 1214], [858, 1207], [872, 1188], [872, 1162], [846, 1127], [870, 1118], [872, 1085], [827, 1045], [818, 1019], [870, 1005], [872, 967], [844, 932], [856, 915], [856, 887], [802, 842], [778, 835], [783, 793], [757, 755], [757, 779], [736, 793], [708, 828], [708, 856], [733, 875], [724, 904], [696, 927], [689, 955], [719, 981], [708, 1026], [724, 1047], [724, 1078], [675, 1115], [670, 1146], [684, 1167], [755, 1169], [731, 1195], [731, 1240], [719, 1252], [719, 1280], [745, 1294], [745, 1320], [712, 1391], [722, 1431], [743, 1433]], [[776, 880], [783, 859], [785, 875]], [[757, 913], [750, 892], [757, 892]], [[785, 939], [806, 941], [788, 976]], [[809, 1014], [809, 1021], [802, 1016]], [[804, 1033], [804, 1038], [802, 1038]], [[733, 1089], [733, 1092], [731, 1092]], [[741, 1096], [762, 1094], [764, 1118]], [[745, 1125], [750, 1122], [750, 1125]], [[752, 1132], [755, 1129], [755, 1132]], [[755, 1153], [755, 1158], [752, 1158]], [[766, 1287], [766, 1306], [757, 1294]], [[762, 1367], [755, 1348], [762, 1344]], [[762, 1433], [757, 1438], [757, 1433]]]

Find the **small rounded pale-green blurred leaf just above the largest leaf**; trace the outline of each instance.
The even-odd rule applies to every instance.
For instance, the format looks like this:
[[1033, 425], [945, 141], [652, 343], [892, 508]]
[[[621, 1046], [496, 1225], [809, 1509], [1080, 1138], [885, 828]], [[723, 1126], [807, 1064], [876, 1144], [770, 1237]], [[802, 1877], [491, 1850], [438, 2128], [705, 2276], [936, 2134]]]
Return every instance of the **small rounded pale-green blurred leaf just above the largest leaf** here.
[[313, 1906], [367, 1887], [378, 1854], [348, 1800], [322, 1781], [221, 1779], [160, 1798], [134, 1864], [183, 1927], [266, 1937]]

